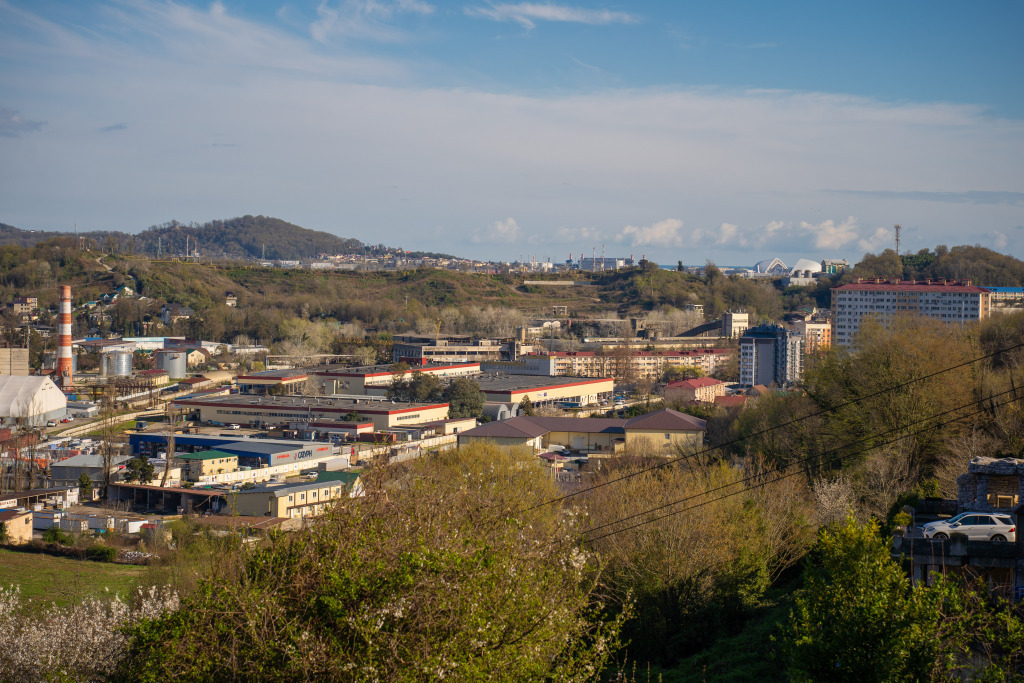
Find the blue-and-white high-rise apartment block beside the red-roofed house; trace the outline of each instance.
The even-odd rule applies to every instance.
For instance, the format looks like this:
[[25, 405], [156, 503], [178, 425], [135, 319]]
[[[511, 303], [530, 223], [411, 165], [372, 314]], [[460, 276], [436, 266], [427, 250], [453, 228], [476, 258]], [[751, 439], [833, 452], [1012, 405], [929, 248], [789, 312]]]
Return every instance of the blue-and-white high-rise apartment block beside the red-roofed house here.
[[804, 374], [804, 336], [777, 325], [751, 328], [739, 338], [739, 383], [790, 386]]

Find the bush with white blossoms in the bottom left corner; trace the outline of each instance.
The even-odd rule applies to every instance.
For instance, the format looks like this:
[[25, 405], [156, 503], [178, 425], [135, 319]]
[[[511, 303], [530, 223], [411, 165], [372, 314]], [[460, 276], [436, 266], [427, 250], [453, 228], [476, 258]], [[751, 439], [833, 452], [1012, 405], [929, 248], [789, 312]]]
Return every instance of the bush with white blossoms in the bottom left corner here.
[[176, 594], [153, 587], [139, 589], [130, 603], [120, 596], [89, 598], [32, 613], [18, 588], [0, 587], [0, 678], [12, 683], [106, 680], [125, 652], [124, 627], [177, 608]]

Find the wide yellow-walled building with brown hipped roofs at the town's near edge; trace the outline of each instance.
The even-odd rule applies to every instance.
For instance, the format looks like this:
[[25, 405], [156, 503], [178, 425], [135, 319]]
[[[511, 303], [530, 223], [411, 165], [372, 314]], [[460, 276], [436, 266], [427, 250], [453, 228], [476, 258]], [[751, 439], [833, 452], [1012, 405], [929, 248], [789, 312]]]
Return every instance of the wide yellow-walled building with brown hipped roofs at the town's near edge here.
[[602, 418], [521, 416], [488, 422], [459, 434], [459, 445], [490, 441], [499, 445], [550, 449], [562, 445], [583, 453], [615, 453], [626, 446], [647, 444], [657, 451], [699, 446], [705, 421], [669, 409], [628, 420]]

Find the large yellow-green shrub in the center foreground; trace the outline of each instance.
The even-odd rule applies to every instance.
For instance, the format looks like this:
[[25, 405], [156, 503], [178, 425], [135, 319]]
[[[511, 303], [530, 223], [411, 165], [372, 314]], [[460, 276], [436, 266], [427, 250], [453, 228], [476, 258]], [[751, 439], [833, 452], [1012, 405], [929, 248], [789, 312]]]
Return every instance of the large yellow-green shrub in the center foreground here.
[[530, 509], [557, 495], [534, 456], [474, 446], [400, 472], [400, 496], [368, 481], [366, 498], [136, 626], [118, 678], [594, 679], [622, 618], [601, 617], [578, 520]]

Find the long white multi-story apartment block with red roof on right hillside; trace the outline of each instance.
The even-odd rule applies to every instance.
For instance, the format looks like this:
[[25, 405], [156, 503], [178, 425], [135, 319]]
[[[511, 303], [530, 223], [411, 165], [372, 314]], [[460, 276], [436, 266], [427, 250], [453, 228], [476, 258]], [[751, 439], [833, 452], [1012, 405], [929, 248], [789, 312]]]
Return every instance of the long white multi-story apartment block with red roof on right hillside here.
[[988, 317], [991, 292], [971, 281], [863, 280], [831, 290], [833, 340], [848, 345], [867, 315], [924, 315], [944, 323]]

